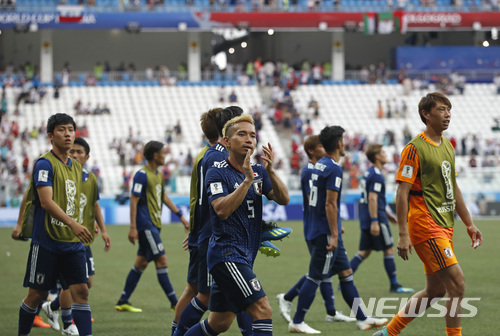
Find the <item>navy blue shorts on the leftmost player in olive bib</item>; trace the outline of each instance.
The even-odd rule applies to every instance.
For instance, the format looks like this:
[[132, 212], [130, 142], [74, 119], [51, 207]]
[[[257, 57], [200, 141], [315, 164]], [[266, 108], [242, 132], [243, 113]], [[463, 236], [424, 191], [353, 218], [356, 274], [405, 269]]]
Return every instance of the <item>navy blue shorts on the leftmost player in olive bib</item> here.
[[85, 251], [54, 253], [31, 244], [24, 287], [48, 291], [57, 286], [57, 280], [63, 289], [89, 282]]

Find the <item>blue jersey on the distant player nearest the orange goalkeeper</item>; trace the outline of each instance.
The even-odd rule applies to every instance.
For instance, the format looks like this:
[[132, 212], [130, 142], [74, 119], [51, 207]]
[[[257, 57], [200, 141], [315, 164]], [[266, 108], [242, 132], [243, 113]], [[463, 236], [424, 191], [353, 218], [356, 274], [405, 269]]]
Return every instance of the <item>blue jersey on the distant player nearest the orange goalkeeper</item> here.
[[368, 209], [368, 195], [371, 192], [377, 193], [378, 221], [388, 223], [385, 212], [385, 179], [380, 169], [375, 166], [370, 167], [361, 180], [361, 199], [359, 201], [359, 222], [361, 230], [369, 230], [371, 226], [371, 216]]

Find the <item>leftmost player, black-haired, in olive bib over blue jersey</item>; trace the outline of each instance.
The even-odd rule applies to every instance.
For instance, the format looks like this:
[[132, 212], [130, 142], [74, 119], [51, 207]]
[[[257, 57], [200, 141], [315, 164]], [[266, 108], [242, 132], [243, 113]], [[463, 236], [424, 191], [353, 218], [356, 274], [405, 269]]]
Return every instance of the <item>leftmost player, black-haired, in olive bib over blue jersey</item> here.
[[71, 116], [52, 115], [47, 122], [52, 149], [33, 168], [30, 188], [34, 222], [24, 278], [29, 291], [19, 309], [19, 335], [30, 333], [37, 307], [56, 287], [58, 279], [63, 289], [71, 292], [73, 319], [79, 334], [92, 335], [83, 243], [90, 243], [93, 235], [78, 222], [82, 166], [68, 156], [75, 129]]

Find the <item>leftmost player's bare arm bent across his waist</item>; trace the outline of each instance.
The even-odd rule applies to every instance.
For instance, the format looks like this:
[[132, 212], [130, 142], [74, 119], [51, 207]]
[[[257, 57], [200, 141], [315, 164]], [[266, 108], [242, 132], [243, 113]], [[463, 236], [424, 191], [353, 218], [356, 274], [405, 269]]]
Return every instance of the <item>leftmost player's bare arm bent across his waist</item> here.
[[52, 199], [52, 187], [51, 186], [39, 186], [37, 187], [38, 196], [40, 198], [40, 205], [42, 208], [49, 213], [50, 216], [63, 222], [69, 228], [75, 236], [78, 237], [83, 243], [91, 243], [93, 240], [92, 234], [87, 230], [87, 228], [73, 218], [71, 218], [67, 213], [65, 213], [59, 205]]

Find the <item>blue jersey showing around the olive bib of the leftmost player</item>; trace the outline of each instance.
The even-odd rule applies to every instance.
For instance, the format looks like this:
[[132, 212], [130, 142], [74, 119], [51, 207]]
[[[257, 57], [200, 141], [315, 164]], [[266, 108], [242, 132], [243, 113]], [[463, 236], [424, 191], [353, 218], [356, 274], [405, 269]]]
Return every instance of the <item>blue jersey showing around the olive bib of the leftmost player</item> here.
[[[57, 157], [52, 151], [51, 153]], [[59, 157], [57, 157], [58, 160]], [[62, 160], [60, 160], [62, 162]], [[63, 162], [67, 166], [72, 166], [73, 162], [68, 158], [68, 162]], [[45, 209], [40, 206], [40, 198], [38, 197], [38, 191], [36, 187], [39, 186], [50, 186], [52, 191], [56, 192], [56, 188], [53, 185], [54, 170], [52, 169], [52, 164], [49, 160], [45, 158], [40, 158], [36, 161], [33, 167], [33, 183], [35, 186], [35, 216], [33, 221], [33, 234], [32, 242], [34, 244], [39, 244], [40, 246], [46, 248], [47, 250], [55, 253], [65, 253], [74, 252], [79, 250], [84, 250], [82, 242], [68, 243], [53, 240], [47, 234], [45, 230]], [[64, 210], [64, 209], [63, 209]]]

